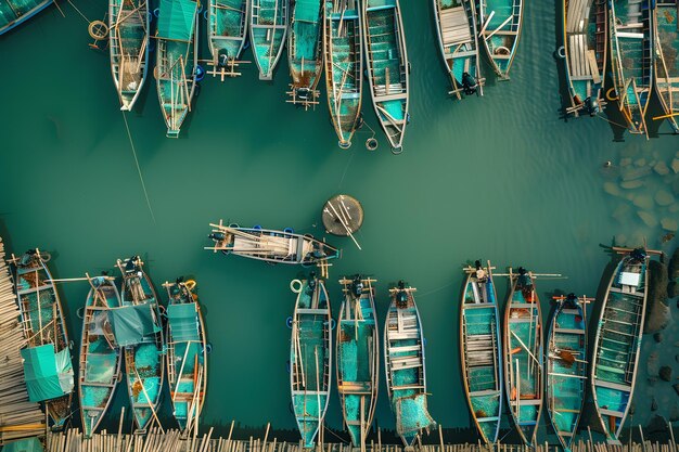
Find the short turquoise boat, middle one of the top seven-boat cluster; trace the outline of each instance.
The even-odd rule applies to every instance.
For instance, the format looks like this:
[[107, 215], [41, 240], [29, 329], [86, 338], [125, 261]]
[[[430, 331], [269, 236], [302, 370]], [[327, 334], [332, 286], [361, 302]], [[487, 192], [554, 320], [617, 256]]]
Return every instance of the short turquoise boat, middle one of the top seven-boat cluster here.
[[260, 80], [272, 80], [287, 33], [289, 0], [252, 0], [249, 42]]

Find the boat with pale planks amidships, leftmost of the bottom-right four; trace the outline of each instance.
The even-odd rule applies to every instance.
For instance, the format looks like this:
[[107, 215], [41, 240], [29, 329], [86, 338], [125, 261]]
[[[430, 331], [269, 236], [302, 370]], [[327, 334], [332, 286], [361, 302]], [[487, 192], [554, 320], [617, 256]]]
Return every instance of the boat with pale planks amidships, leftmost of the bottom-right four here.
[[500, 314], [492, 269], [477, 260], [466, 267], [460, 304], [460, 357], [462, 380], [472, 419], [482, 439], [495, 443], [502, 416], [502, 352]]

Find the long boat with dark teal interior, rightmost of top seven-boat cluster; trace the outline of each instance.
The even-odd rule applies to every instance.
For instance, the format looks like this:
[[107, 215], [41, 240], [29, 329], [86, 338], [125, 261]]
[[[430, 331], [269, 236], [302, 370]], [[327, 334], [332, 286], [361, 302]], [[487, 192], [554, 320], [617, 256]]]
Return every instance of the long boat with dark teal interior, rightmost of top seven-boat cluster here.
[[364, 0], [363, 42], [372, 104], [392, 148], [403, 144], [410, 63], [398, 0]]

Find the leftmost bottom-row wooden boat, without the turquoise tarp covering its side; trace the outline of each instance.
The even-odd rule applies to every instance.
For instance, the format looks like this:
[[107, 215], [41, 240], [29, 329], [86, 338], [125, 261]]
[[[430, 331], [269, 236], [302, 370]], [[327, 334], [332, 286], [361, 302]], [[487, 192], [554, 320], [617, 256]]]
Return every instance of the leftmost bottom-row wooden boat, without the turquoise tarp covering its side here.
[[[64, 311], [59, 293], [52, 283], [52, 274], [47, 267], [50, 255], [30, 249], [23, 256], [12, 256], [12, 271], [16, 285], [16, 299], [22, 317], [24, 336], [28, 348], [51, 345], [57, 357], [57, 372], [60, 374], [59, 397], [56, 392], [43, 393], [49, 399], [40, 398], [44, 409], [51, 417], [53, 428], [63, 428], [65, 421], [71, 416], [73, 400], [74, 377], [71, 360], [71, 344], [64, 322]], [[61, 367], [61, 369], [60, 369]], [[63, 382], [62, 382], [63, 380]], [[30, 388], [29, 388], [30, 389]], [[29, 391], [31, 396], [31, 391]], [[31, 401], [33, 397], [31, 397]]]

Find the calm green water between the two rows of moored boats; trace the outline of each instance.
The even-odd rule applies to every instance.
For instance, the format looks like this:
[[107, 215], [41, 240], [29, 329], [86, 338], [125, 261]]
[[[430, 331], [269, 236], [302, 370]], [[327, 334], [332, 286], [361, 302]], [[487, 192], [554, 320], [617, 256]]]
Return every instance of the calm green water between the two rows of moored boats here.
[[[431, 5], [413, 0], [401, 4], [412, 64], [412, 121], [402, 155], [388, 152], [381, 131], [380, 148], [366, 151], [367, 127], [349, 151], [337, 148], [324, 103], [304, 112], [284, 102], [285, 60], [273, 82], [258, 81], [254, 64], [226, 83], [206, 78], [179, 140], [165, 138], [151, 79], [127, 121], [152, 215], [117, 109], [107, 54], [88, 48], [86, 21], [60, 4], [65, 18], [50, 9], [0, 38], [0, 232], [14, 251], [51, 250], [51, 267], [61, 277], [112, 269], [116, 258], [132, 254], [142, 255], [157, 287], [179, 275], [194, 277], [213, 344], [205, 425], [238, 419], [295, 427], [285, 319], [295, 300], [289, 283], [302, 275], [298, 268], [203, 250], [210, 221], [323, 235], [324, 201], [337, 193], [359, 198], [366, 221], [357, 240], [363, 250], [347, 238], [329, 237], [344, 248], [331, 268], [332, 306], [340, 308], [335, 281], [343, 274], [379, 280], [380, 318], [389, 284], [405, 279], [418, 287], [430, 411], [446, 428], [467, 428], [457, 340], [461, 268], [467, 260], [491, 259], [498, 271], [524, 266], [564, 274], [538, 283], [548, 309], [555, 290], [597, 292], [610, 261], [600, 244], [617, 237], [636, 245], [645, 238], [657, 247], [667, 232], [659, 221], [679, 218], [677, 175], [653, 170], [661, 160], [670, 166], [679, 150], [669, 127], [655, 124], [646, 141], [605, 116], [563, 119], [553, 2], [527, 4], [511, 81], [496, 82], [486, 67], [486, 95], [456, 102], [446, 94]], [[106, 9], [103, 1], [76, 0], [76, 5], [90, 20], [102, 18]], [[249, 53], [245, 57], [252, 60]], [[368, 92], [363, 101], [367, 124], [377, 129]], [[619, 118], [611, 114], [607, 120]], [[606, 160], [613, 166], [604, 169]], [[661, 189], [670, 195], [663, 206], [654, 198]], [[503, 296], [505, 282], [497, 284]], [[88, 286], [64, 284], [61, 292], [77, 344], [75, 313]], [[661, 350], [662, 360], [679, 371], [675, 326], [664, 334], [659, 345], [644, 339], [644, 354]], [[635, 424], [651, 416], [650, 396], [661, 401], [657, 413], [665, 416], [678, 400], [670, 384], [648, 385], [643, 362]], [[120, 387], [118, 405], [125, 397]], [[334, 388], [326, 421], [342, 428]], [[394, 426], [384, 388], [376, 422]]]

